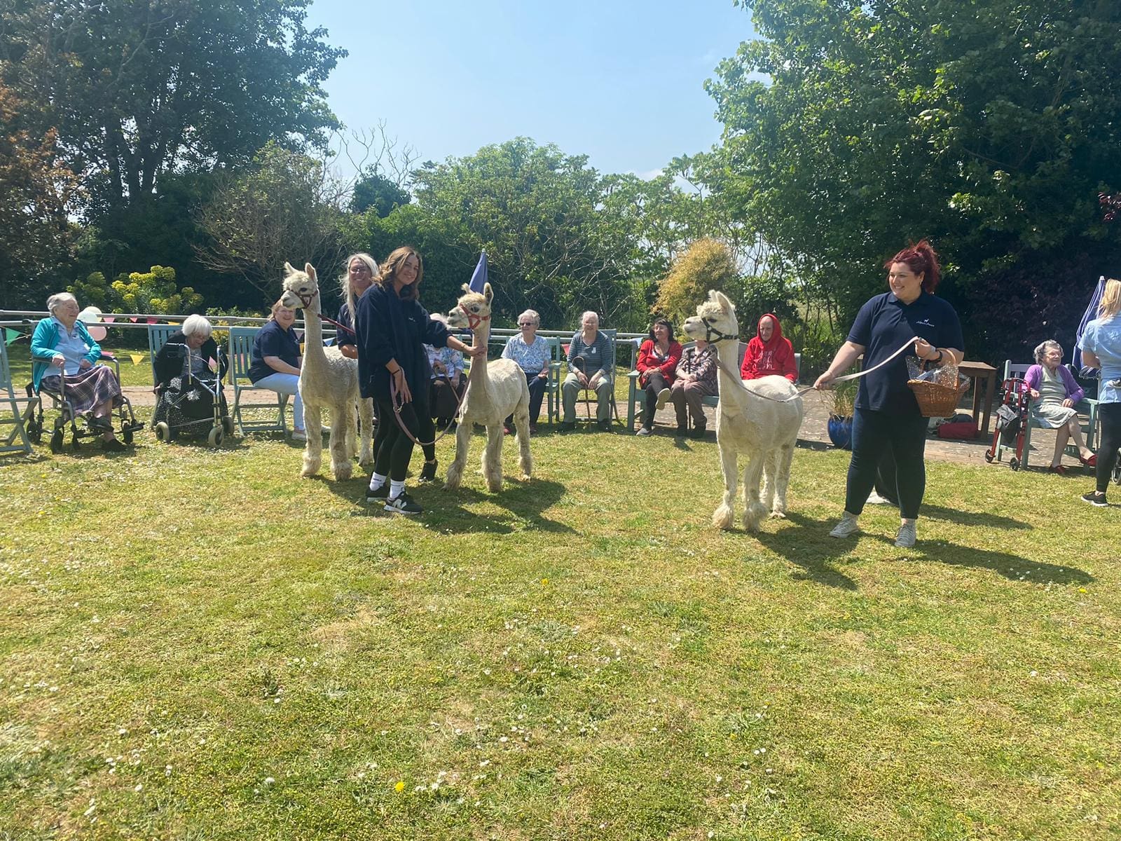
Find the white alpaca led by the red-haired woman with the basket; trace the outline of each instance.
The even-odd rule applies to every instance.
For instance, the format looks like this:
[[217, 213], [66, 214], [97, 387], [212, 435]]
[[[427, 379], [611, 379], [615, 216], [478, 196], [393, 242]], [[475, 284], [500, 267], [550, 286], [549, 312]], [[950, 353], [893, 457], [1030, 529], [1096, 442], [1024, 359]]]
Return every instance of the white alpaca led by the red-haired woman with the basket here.
[[[720, 403], [716, 406], [716, 444], [724, 472], [724, 499], [712, 516], [717, 528], [731, 528], [740, 454], [748, 458], [743, 470], [743, 527], [758, 532], [770, 509], [771, 517], [786, 516], [786, 490], [790, 461], [802, 426], [798, 389], [785, 377], [741, 380], [738, 351], [740, 325], [732, 302], [719, 292], [697, 306], [685, 321], [691, 339], [707, 339], [720, 359]], [[769, 398], [769, 399], [768, 399]], [[766, 472], [762, 501], [759, 479]]]

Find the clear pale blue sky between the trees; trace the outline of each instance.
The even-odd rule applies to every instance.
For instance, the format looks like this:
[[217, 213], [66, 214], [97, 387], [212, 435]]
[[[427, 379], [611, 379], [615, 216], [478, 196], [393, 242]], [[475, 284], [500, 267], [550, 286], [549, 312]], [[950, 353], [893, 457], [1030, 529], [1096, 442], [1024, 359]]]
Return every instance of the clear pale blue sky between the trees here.
[[720, 139], [703, 84], [753, 31], [732, 0], [314, 0], [307, 25], [350, 50], [339, 119], [385, 120], [419, 160], [526, 136], [642, 176]]

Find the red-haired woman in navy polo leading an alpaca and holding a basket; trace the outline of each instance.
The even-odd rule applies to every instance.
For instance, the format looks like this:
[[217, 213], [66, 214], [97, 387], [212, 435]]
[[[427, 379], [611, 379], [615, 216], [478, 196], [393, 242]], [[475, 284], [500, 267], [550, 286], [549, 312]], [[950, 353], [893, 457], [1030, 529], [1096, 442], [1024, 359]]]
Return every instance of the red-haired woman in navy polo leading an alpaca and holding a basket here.
[[[927, 420], [907, 387], [908, 354], [895, 359], [891, 354], [914, 339], [910, 355], [935, 366], [957, 364], [965, 355], [962, 350], [965, 342], [957, 313], [934, 295], [941, 270], [930, 243], [923, 240], [905, 248], [883, 264], [883, 268], [888, 270], [889, 292], [877, 295], [860, 308], [847, 341], [825, 373], [817, 378], [814, 388], [825, 388], [847, 370], [856, 357], [864, 354], [868, 375], [860, 378], [853, 410], [852, 460], [844, 514], [830, 536], [849, 537], [860, 530], [856, 517], [872, 492], [880, 456], [890, 450], [896, 459], [901, 519], [896, 546], [906, 548], [915, 545], [918, 509], [926, 490], [923, 452]], [[884, 364], [877, 368], [881, 362]]]

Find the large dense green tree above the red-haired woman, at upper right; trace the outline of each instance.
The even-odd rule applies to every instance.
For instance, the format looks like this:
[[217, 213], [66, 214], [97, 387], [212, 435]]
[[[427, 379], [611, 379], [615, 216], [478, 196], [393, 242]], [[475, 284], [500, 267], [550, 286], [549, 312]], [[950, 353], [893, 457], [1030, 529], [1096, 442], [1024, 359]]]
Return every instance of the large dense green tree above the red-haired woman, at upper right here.
[[[1117, 255], [1097, 212], [1121, 186], [1117, 3], [744, 6], [762, 38], [707, 85], [725, 127], [720, 188], [846, 313], [909, 239], [935, 241], [960, 298], [1012, 267], [1043, 284], [1035, 267], [1062, 255]], [[967, 318], [973, 336], [1003, 341], [989, 321]]]

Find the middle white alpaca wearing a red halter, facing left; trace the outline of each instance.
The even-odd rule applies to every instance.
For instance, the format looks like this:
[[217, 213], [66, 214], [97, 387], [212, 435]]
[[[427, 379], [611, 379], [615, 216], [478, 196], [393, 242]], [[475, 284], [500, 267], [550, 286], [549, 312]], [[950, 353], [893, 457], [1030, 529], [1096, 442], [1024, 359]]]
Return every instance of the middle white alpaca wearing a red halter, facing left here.
[[[490, 339], [491, 301], [494, 293], [490, 284], [483, 287], [483, 294], [470, 292], [458, 299], [456, 306], [447, 314], [450, 327], [470, 329], [474, 334], [473, 346], [485, 348]], [[447, 483], [444, 490], [455, 490], [463, 480], [463, 468], [467, 462], [467, 446], [471, 443], [471, 428], [474, 424], [487, 426], [487, 449], [483, 450], [483, 475], [487, 487], [492, 492], [502, 490], [502, 438], [504, 432], [502, 422], [513, 415], [513, 425], [518, 431], [518, 445], [521, 449], [521, 478], [529, 479], [534, 470], [534, 456], [529, 452], [529, 386], [526, 375], [512, 359], [495, 359], [488, 362], [487, 357], [475, 357], [467, 375], [467, 392], [460, 407], [460, 427], [455, 433], [455, 461], [447, 469]]]

